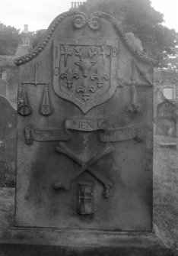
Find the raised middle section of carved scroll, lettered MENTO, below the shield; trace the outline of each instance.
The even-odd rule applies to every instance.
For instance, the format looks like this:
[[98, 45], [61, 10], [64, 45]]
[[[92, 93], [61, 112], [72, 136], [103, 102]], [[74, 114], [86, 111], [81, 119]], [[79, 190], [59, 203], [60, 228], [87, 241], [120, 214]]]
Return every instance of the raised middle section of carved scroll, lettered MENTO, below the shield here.
[[105, 130], [108, 127], [106, 119], [67, 119], [65, 127], [78, 131]]

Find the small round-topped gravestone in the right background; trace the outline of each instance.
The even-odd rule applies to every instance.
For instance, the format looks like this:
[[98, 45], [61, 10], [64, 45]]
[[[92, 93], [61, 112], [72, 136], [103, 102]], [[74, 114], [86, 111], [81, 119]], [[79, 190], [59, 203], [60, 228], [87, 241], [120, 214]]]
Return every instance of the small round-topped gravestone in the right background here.
[[176, 108], [168, 99], [157, 105], [157, 134], [176, 137]]

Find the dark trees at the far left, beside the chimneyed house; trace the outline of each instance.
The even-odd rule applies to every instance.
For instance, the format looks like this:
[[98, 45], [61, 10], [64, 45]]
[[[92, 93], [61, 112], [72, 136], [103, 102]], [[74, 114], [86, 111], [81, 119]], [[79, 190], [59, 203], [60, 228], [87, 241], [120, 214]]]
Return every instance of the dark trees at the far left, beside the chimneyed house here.
[[14, 55], [20, 38], [19, 30], [0, 22], [0, 55]]

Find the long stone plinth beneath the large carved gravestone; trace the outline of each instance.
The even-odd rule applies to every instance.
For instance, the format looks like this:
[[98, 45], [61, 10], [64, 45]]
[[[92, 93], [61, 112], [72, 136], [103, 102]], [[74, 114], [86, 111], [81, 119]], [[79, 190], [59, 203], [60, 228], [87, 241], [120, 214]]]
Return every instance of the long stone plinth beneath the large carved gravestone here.
[[1, 232], [0, 255], [173, 256], [154, 233], [13, 228]]

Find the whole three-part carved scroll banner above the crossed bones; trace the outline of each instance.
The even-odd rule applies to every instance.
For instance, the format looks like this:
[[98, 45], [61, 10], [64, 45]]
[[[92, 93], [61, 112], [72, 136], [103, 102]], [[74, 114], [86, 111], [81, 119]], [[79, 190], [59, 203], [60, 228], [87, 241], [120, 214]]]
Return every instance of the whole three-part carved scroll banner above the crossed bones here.
[[97, 131], [103, 130], [99, 134], [100, 141], [115, 142], [126, 141], [132, 138], [141, 139], [141, 125], [135, 124], [125, 128], [108, 129], [109, 123], [106, 119], [66, 119], [65, 129], [48, 128], [39, 129], [32, 125], [24, 129], [26, 144], [32, 144], [33, 141], [69, 141], [72, 135], [68, 130], [77, 131]]

